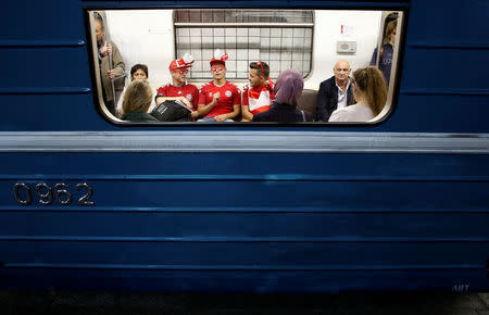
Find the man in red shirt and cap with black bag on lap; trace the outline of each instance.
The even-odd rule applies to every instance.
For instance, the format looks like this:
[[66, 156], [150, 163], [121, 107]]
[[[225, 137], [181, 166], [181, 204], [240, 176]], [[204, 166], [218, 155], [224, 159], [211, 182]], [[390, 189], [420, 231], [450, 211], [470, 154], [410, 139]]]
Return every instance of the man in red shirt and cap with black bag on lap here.
[[167, 100], [181, 101], [192, 111], [191, 117], [196, 119], [199, 116], [199, 89], [195, 85], [187, 83], [188, 70], [192, 66], [192, 63], [193, 56], [188, 53], [181, 59], [172, 61], [168, 66], [172, 83], [160, 87], [155, 99], [158, 105]]

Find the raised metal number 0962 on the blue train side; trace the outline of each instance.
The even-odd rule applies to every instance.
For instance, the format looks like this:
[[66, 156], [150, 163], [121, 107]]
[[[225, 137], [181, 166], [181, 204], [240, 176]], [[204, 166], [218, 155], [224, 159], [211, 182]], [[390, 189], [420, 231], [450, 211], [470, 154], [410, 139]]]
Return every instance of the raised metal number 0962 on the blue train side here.
[[[84, 192], [78, 199], [78, 205], [95, 205], [95, 201], [90, 198], [93, 196], [93, 189], [87, 182], [79, 182], [76, 186], [77, 192]], [[73, 193], [70, 192], [70, 186], [61, 182], [55, 184], [54, 187], [47, 185], [46, 182], [39, 182], [36, 185], [34, 191], [38, 198], [38, 202], [42, 205], [50, 205], [54, 199], [62, 205], [68, 205], [73, 202]], [[24, 182], [17, 182], [13, 187], [15, 201], [21, 205], [29, 205], [33, 202], [33, 193], [30, 187]]]

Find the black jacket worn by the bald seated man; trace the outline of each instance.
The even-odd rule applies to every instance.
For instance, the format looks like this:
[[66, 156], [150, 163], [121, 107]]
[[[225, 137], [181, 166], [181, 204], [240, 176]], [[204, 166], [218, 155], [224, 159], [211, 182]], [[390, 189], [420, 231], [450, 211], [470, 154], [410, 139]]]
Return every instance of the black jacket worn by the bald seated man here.
[[[353, 103], [353, 87], [350, 84], [347, 90], [347, 106], [352, 105]], [[321, 83], [316, 105], [317, 121], [327, 122], [331, 113], [338, 108], [338, 88], [336, 86], [335, 76]]]

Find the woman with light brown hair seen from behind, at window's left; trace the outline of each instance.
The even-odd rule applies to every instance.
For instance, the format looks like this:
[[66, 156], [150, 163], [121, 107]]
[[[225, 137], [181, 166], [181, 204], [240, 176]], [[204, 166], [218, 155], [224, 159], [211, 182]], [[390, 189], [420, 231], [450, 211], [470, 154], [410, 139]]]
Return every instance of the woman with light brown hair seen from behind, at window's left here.
[[126, 89], [123, 100], [123, 121], [129, 122], [158, 122], [148, 114], [148, 109], [153, 100], [153, 91], [150, 85], [141, 79], [133, 80]]

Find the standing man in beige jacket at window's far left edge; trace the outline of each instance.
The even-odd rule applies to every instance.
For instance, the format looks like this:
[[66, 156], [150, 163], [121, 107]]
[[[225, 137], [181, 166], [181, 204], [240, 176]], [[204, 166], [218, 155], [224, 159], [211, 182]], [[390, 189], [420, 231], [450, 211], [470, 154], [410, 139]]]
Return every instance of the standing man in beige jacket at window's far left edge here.
[[[103, 18], [99, 13], [95, 13], [95, 27], [97, 38], [98, 60], [100, 67], [100, 77], [102, 78], [102, 97], [106, 109], [115, 116], [115, 104], [121, 97], [125, 83], [125, 63], [118, 51], [117, 46], [105, 40], [105, 26]], [[111, 65], [109, 65], [109, 54], [111, 54]], [[114, 91], [112, 83], [114, 83]]]

